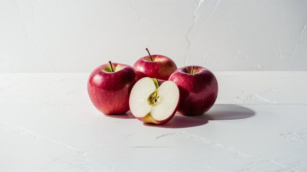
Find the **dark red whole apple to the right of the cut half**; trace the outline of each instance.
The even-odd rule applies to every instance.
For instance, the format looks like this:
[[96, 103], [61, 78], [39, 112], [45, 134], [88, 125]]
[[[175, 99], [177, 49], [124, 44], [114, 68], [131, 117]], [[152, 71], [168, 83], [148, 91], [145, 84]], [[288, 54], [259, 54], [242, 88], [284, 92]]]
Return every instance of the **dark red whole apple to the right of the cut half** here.
[[180, 67], [170, 76], [180, 92], [178, 112], [184, 115], [200, 115], [208, 111], [216, 101], [218, 83], [214, 74], [202, 66]]

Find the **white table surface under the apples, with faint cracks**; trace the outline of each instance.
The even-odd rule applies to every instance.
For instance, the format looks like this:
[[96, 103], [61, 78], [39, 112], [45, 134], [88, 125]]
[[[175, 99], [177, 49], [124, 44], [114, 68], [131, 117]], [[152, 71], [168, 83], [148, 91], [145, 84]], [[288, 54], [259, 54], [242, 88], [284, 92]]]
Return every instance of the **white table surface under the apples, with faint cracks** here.
[[0, 171], [307, 171], [307, 72], [214, 72], [216, 104], [162, 126], [106, 116], [89, 73], [0, 74]]

